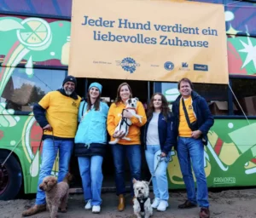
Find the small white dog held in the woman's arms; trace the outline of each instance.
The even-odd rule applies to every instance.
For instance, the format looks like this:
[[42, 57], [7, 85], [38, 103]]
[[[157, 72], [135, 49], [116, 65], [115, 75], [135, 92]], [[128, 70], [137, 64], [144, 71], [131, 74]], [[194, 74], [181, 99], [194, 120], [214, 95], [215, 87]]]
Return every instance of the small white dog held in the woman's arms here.
[[[142, 121], [142, 117], [143, 116], [140, 116], [140, 115], [137, 115], [136, 114], [136, 108], [137, 108], [137, 101], [138, 99], [137, 98], [131, 98], [131, 99], [127, 99], [126, 100], [126, 106], [125, 106], [125, 109], [123, 110], [122, 112], [122, 115], [124, 113], [124, 111], [128, 111], [128, 112], [131, 112], [131, 114], [135, 117], [135, 118], [138, 118], [140, 123], [143, 123]], [[128, 132], [129, 132], [129, 127], [131, 126], [131, 120], [129, 118], [124, 118], [122, 116], [122, 118], [120, 119], [119, 121], [119, 124], [118, 126], [114, 129], [114, 132], [115, 133], [119, 133], [119, 132], [123, 132], [125, 133], [125, 136], [122, 138], [123, 140], [127, 140], [127, 141], [131, 141], [130, 138], [127, 138], [126, 135], [128, 135]], [[109, 144], [110, 145], [114, 145], [116, 143], [119, 142], [119, 138], [116, 138], [114, 141], [109, 141]]]

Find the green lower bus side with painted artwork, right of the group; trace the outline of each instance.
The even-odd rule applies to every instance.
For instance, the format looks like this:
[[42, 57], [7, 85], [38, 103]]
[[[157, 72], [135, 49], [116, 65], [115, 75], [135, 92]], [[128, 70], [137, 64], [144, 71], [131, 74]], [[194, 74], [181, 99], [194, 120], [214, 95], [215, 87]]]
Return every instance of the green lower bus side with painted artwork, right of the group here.
[[[204, 165], [209, 187], [256, 186], [256, 120], [216, 119], [208, 133]], [[183, 177], [172, 150], [169, 188], [183, 188]], [[194, 176], [195, 177], [195, 176]]]

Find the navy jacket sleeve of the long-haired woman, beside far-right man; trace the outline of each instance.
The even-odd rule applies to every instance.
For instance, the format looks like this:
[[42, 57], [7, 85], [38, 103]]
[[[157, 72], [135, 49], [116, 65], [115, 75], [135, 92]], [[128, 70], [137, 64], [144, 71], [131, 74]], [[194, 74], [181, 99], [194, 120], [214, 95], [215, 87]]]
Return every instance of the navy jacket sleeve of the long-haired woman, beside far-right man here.
[[167, 119], [166, 131], [166, 142], [162, 149], [162, 152], [168, 154], [168, 152], [171, 152], [172, 146], [176, 146], [177, 144], [176, 121], [173, 115], [170, 115], [170, 117]]

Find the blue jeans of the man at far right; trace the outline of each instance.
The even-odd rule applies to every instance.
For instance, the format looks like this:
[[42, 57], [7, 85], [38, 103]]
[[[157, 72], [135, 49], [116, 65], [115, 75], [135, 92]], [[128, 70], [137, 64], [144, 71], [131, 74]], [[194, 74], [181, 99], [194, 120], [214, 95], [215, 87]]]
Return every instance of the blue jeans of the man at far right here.
[[[204, 145], [200, 139], [178, 137], [177, 158], [183, 174], [190, 202], [208, 208], [207, 178], [204, 169]], [[195, 198], [195, 181], [192, 175], [191, 161], [197, 183], [197, 198]]]

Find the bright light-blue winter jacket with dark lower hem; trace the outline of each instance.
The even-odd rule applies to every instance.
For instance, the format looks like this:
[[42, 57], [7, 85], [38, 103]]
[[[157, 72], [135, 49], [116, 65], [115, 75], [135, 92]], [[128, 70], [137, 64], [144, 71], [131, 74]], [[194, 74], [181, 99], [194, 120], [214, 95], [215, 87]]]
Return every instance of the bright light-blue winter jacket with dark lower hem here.
[[[84, 112], [82, 112], [84, 111]], [[84, 118], [82, 118], [84, 116]], [[75, 155], [102, 155], [107, 143], [108, 105], [100, 102], [100, 110], [87, 112], [87, 102], [79, 106], [79, 128], [75, 136]]]

